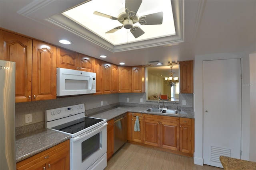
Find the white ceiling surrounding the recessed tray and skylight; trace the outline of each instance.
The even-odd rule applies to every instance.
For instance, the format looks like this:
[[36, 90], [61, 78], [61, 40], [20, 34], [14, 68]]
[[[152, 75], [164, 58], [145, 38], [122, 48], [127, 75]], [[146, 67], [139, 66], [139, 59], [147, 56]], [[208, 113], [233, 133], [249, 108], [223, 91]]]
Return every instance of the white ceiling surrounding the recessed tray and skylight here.
[[[78, 29], [86, 36], [49, 22], [50, 17], [82, 2], [0, 0], [0, 27], [95, 58], [107, 55], [103, 60], [114, 64], [124, 62], [129, 66], [146, 65], [156, 60], [168, 65], [168, 61], [193, 60], [195, 55], [242, 52], [256, 43], [255, 0], [185, 0], [181, 41], [112, 52], [89, 41], [92, 33], [82, 30], [82, 27]], [[70, 39], [72, 44], [58, 42], [64, 38]]]

